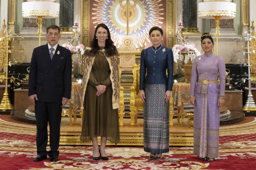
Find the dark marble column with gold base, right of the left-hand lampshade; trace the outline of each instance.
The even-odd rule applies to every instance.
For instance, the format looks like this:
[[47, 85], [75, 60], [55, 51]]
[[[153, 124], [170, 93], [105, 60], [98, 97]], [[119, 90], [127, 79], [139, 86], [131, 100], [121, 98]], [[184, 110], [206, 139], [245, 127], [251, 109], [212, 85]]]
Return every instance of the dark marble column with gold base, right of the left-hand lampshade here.
[[60, 31], [72, 31], [73, 24], [74, 0], [60, 0]]

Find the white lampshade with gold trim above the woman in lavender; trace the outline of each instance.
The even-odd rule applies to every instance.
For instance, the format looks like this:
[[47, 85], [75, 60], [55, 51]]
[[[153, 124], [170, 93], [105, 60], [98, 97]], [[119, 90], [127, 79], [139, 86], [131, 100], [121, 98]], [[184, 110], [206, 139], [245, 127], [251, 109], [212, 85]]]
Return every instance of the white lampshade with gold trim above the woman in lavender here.
[[206, 19], [214, 19], [219, 16], [220, 19], [231, 19], [236, 14], [236, 4], [230, 0], [213, 1], [205, 0], [198, 3], [198, 16]]

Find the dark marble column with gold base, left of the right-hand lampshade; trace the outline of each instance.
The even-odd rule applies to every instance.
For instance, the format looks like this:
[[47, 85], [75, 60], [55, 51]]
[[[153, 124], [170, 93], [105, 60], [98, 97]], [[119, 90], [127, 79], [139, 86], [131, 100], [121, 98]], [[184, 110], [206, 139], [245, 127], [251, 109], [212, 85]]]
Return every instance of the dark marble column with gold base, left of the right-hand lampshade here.
[[197, 28], [197, 0], [182, 0], [182, 22], [184, 34], [199, 33]]

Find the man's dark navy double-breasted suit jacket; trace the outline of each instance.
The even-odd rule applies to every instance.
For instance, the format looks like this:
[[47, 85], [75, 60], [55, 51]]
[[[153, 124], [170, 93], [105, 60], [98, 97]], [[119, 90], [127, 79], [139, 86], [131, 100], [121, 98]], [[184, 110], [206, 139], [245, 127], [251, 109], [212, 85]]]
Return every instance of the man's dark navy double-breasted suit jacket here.
[[48, 45], [36, 47], [29, 68], [28, 96], [36, 94], [39, 101], [61, 102], [71, 96], [71, 52], [57, 45], [50, 59]]

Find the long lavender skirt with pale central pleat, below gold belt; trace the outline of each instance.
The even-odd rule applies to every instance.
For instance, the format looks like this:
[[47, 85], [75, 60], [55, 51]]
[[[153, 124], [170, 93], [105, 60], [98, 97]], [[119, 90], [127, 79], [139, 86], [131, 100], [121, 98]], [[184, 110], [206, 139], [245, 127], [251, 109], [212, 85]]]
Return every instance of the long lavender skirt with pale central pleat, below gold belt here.
[[194, 106], [194, 155], [217, 158], [220, 131], [220, 107], [217, 106], [217, 102], [220, 87], [218, 83], [208, 84], [207, 94], [202, 94], [201, 89], [202, 84], [197, 82]]

